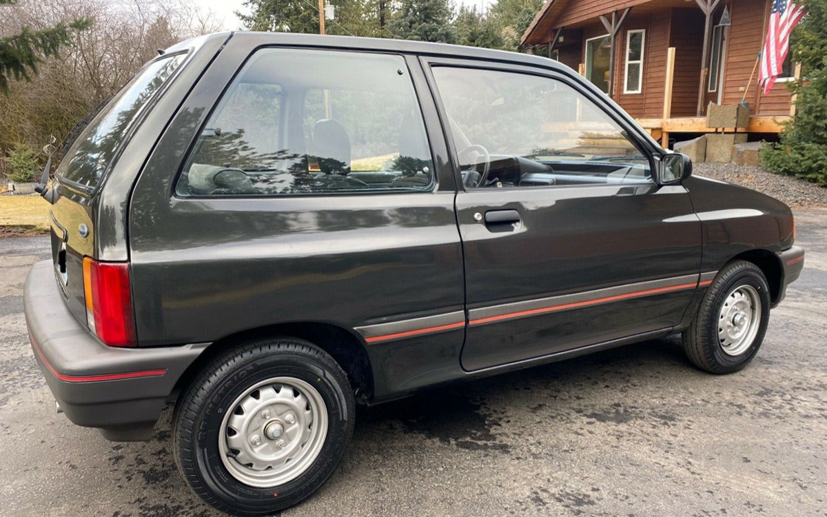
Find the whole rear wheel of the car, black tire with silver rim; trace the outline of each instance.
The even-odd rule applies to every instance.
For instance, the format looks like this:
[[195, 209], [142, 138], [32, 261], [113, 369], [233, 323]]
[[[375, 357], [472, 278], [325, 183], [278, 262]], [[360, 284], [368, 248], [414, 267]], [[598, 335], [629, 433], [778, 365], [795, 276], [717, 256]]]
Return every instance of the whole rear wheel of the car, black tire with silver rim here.
[[234, 515], [268, 515], [322, 486], [353, 432], [342, 368], [294, 338], [215, 359], [175, 408], [175, 459], [189, 486]]

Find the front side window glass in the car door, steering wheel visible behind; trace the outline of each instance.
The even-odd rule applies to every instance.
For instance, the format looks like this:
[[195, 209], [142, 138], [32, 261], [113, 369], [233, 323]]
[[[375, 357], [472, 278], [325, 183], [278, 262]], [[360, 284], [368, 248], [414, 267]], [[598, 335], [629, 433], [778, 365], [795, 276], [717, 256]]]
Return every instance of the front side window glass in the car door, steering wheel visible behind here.
[[562, 81], [433, 68], [466, 187], [651, 183], [623, 127]]

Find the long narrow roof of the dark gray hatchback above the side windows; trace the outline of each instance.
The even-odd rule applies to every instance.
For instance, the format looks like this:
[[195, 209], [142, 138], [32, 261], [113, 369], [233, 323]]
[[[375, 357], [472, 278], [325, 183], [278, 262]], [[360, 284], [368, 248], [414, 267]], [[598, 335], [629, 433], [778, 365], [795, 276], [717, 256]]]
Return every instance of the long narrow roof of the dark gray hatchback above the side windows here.
[[241, 40], [249, 45], [295, 45], [295, 46], [323, 46], [327, 48], [349, 50], [380, 50], [405, 54], [432, 55], [446, 58], [461, 58], [473, 60], [492, 60], [510, 62], [516, 65], [543, 66], [558, 70], [567, 70], [555, 60], [538, 55], [528, 55], [507, 50], [491, 50], [474, 46], [448, 45], [447, 43], [430, 43], [427, 41], [392, 40], [385, 38], [364, 38], [357, 36], [329, 36], [318, 34], [298, 34], [294, 32], [253, 32], [233, 31], [217, 32], [207, 36], [200, 36], [193, 40], [182, 41], [167, 49], [168, 52], [183, 50], [198, 45], [208, 39], [224, 38]]

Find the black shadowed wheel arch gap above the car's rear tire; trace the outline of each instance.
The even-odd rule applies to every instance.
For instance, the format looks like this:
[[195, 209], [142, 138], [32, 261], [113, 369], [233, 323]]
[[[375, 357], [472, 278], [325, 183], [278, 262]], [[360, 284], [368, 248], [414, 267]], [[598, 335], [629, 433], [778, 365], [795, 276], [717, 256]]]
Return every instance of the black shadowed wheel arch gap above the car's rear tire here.
[[351, 386], [356, 392], [357, 401], [369, 398], [373, 394], [373, 369], [361, 338], [356, 337], [356, 334], [346, 328], [322, 322], [276, 323], [221, 337], [210, 343], [198, 356], [198, 359], [189, 365], [176, 383], [174, 393], [179, 392], [194, 381], [198, 374], [203, 371], [203, 368], [222, 353], [255, 339], [276, 336], [298, 337], [312, 342], [330, 354], [347, 374], [347, 378], [351, 381]]

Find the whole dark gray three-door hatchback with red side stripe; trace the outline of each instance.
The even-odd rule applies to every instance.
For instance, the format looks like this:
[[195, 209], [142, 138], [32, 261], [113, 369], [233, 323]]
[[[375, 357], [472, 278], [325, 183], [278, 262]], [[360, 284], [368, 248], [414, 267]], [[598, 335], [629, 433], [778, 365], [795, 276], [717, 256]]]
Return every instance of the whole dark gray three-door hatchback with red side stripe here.
[[737, 371], [804, 258], [786, 205], [571, 69], [408, 41], [175, 45], [45, 197], [26, 322], [60, 408], [141, 440], [174, 400], [180, 471], [239, 515], [318, 489], [357, 403], [672, 333]]

